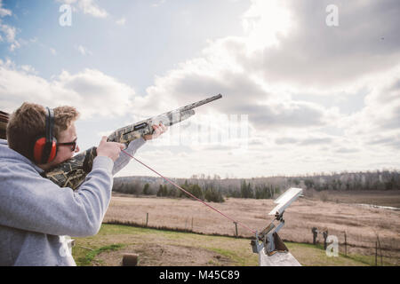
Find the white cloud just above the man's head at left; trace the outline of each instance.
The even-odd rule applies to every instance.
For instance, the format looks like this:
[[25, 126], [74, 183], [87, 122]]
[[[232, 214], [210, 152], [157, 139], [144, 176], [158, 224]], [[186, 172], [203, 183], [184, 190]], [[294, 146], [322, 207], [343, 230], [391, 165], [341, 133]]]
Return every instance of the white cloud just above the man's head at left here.
[[35, 74], [33, 67], [16, 67], [0, 61], [0, 104], [12, 112], [24, 101], [45, 106], [76, 106], [82, 118], [121, 116], [140, 107], [132, 87], [98, 70], [84, 69], [76, 74], [63, 71], [48, 81]]

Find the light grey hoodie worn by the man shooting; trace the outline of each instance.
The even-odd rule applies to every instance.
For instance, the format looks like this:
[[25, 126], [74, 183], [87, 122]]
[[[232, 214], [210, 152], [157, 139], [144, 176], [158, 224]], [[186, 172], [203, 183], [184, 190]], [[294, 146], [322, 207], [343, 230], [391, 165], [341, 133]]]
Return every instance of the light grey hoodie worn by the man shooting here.
[[[145, 143], [133, 140], [134, 154]], [[60, 188], [39, 167], [0, 139], [0, 266], [76, 265], [68, 237], [99, 232], [108, 209], [113, 174], [129, 162], [125, 154], [113, 162], [100, 156], [75, 192]]]

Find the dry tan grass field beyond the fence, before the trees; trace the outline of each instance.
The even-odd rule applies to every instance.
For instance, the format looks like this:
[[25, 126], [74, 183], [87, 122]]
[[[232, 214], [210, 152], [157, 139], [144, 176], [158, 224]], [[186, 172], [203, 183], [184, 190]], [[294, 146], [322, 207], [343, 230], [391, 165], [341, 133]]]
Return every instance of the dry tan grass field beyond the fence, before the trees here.
[[[392, 197], [393, 198], [393, 197]], [[398, 195], [397, 195], [398, 198]], [[260, 231], [272, 220], [272, 200], [229, 198], [224, 203], [210, 203], [238, 222]], [[191, 230], [197, 233], [234, 235], [235, 226], [226, 217], [198, 201], [154, 197], [113, 196], [104, 222], [117, 221], [148, 226]], [[311, 228], [316, 227], [336, 235], [340, 251], [344, 251], [344, 232], [347, 232], [348, 252], [374, 254], [376, 233], [379, 233], [382, 254], [400, 264], [400, 211], [371, 209], [337, 201], [300, 199], [285, 212], [286, 224], [280, 231], [284, 241], [312, 242]], [[192, 227], [193, 219], [193, 227]], [[238, 226], [238, 233], [251, 237], [252, 232]], [[323, 242], [322, 236], [318, 237]], [[385, 249], [388, 248], [388, 249]]]

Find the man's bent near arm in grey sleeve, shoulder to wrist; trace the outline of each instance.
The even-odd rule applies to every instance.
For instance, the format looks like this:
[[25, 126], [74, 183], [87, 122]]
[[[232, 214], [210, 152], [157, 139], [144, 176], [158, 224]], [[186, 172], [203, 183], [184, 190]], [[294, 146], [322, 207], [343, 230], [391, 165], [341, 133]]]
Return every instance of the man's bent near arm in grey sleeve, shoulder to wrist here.
[[28, 164], [10, 165], [0, 173], [0, 224], [52, 235], [97, 233], [108, 208], [113, 161], [93, 161], [79, 192], [60, 188]]

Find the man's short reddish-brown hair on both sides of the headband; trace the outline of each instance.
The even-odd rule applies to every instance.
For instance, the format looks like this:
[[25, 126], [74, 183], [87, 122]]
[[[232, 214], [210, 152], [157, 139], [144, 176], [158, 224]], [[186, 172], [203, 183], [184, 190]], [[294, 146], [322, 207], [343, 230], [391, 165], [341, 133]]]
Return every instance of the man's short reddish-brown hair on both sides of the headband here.
[[[56, 139], [60, 132], [68, 127], [79, 117], [74, 106], [58, 106], [53, 108], [54, 128]], [[36, 139], [45, 135], [46, 109], [44, 106], [24, 102], [10, 116], [7, 124], [8, 146], [33, 161], [33, 149]]]

